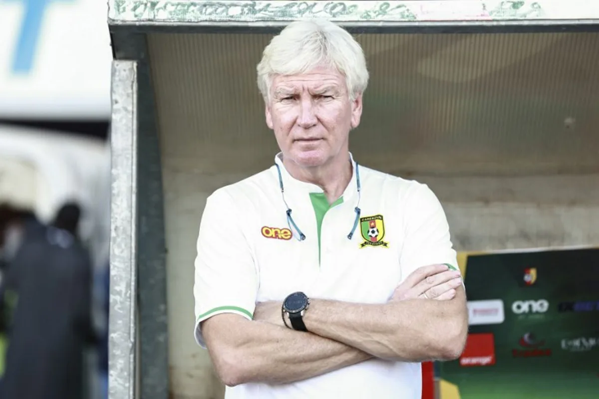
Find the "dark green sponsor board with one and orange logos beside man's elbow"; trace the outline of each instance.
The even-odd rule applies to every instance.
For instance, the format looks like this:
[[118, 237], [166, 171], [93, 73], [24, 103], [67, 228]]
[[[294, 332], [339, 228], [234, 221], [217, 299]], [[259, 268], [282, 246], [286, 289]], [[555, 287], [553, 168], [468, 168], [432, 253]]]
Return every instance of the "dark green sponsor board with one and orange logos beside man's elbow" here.
[[599, 249], [461, 254], [469, 334], [441, 399], [599, 397]]

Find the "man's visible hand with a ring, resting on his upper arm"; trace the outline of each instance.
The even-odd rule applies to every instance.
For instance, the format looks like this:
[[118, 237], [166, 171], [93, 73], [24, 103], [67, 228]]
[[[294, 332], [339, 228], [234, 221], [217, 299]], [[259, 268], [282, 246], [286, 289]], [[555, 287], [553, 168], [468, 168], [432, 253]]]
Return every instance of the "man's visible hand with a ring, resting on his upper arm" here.
[[449, 300], [455, 289], [462, 285], [459, 270], [450, 270], [445, 264], [431, 264], [414, 270], [393, 293], [391, 301], [406, 299]]

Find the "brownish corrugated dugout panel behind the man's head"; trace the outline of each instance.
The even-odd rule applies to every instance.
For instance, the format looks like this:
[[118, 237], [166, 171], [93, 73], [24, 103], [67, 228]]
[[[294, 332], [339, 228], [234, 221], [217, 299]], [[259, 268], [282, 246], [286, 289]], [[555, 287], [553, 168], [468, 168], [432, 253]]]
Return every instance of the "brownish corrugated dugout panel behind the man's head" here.
[[[196, 157], [208, 173], [270, 165], [277, 148], [255, 83], [270, 37], [149, 36], [159, 129], [177, 137], [163, 140], [165, 156]], [[362, 164], [402, 175], [599, 171], [598, 33], [357, 38], [371, 74], [352, 132]]]

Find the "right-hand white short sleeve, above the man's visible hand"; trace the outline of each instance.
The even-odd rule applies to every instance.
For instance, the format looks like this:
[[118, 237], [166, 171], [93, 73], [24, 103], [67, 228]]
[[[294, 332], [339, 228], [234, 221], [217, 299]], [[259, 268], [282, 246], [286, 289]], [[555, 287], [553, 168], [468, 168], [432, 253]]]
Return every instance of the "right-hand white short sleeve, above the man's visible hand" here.
[[402, 279], [429, 264], [458, 269], [449, 224], [437, 196], [425, 184], [410, 188], [404, 203], [404, 242], [401, 247]]

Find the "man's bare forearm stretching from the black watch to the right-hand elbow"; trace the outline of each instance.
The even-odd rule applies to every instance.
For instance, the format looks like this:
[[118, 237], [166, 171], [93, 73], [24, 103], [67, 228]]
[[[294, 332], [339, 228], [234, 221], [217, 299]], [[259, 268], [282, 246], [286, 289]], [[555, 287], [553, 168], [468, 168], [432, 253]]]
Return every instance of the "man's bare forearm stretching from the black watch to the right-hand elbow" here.
[[304, 323], [314, 334], [390, 360], [448, 360], [459, 356], [468, 330], [465, 293], [448, 301], [385, 304], [311, 300]]

